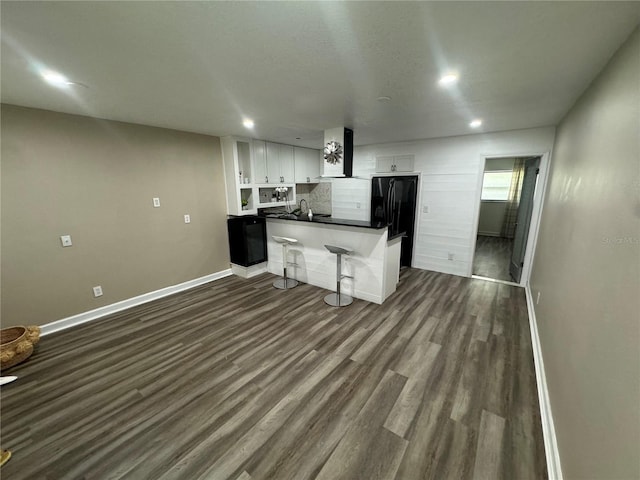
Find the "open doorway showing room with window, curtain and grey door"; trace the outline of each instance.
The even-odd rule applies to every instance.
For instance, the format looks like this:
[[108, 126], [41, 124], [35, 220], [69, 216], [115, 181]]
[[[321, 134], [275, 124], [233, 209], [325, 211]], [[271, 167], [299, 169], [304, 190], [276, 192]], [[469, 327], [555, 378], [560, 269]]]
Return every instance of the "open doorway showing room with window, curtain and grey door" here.
[[487, 158], [472, 275], [520, 283], [541, 156]]

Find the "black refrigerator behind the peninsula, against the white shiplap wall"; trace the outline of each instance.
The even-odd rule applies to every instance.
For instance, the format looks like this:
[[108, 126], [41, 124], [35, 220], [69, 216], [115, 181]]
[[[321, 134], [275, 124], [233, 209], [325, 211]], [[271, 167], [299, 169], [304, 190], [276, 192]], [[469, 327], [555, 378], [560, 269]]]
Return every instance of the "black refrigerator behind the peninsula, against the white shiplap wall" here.
[[390, 237], [405, 233], [400, 253], [403, 267], [411, 266], [417, 195], [417, 175], [371, 179], [371, 222], [388, 224]]

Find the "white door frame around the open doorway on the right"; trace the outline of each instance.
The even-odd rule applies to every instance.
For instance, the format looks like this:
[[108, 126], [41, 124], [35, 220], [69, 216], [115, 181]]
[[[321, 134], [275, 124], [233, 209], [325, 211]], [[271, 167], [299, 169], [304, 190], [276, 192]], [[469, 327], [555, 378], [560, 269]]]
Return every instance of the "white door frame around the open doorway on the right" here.
[[522, 266], [522, 276], [520, 277], [521, 287], [525, 287], [529, 284], [529, 278], [531, 276], [531, 268], [533, 266], [534, 254], [536, 251], [536, 244], [538, 242], [538, 232], [540, 229], [540, 219], [542, 217], [542, 207], [544, 205], [544, 197], [547, 190], [547, 182], [549, 180], [549, 160], [551, 158], [551, 152], [540, 151], [526, 151], [517, 153], [498, 153], [490, 154], [483, 153], [480, 155], [480, 170], [478, 172], [478, 182], [476, 186], [476, 208], [474, 215], [473, 225], [475, 229], [473, 231], [473, 240], [471, 245], [471, 252], [469, 258], [469, 268], [467, 270], [467, 277], [471, 277], [473, 274], [473, 261], [476, 255], [476, 241], [478, 239], [478, 225], [480, 223], [480, 206], [482, 202], [480, 197], [482, 195], [482, 182], [484, 179], [484, 167], [488, 158], [512, 158], [512, 157], [540, 157], [540, 173], [538, 174], [538, 184], [535, 195], [533, 197], [533, 210], [531, 212], [531, 220], [529, 223], [529, 235], [527, 235], [527, 243], [524, 254], [524, 265]]

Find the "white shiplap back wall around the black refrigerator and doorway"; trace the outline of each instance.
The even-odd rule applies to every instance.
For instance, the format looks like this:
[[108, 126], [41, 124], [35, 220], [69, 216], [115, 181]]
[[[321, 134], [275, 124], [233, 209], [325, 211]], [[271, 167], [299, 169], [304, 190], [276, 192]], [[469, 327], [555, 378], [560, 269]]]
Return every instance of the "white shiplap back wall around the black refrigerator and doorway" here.
[[[542, 127], [356, 147], [353, 175], [361, 178], [333, 180], [333, 215], [368, 219], [369, 179], [375, 173], [376, 156], [414, 155], [415, 169], [422, 175], [413, 266], [469, 275], [484, 158], [549, 152], [554, 135], [554, 127]], [[423, 213], [425, 207], [429, 213]], [[448, 253], [454, 260], [447, 259]]]

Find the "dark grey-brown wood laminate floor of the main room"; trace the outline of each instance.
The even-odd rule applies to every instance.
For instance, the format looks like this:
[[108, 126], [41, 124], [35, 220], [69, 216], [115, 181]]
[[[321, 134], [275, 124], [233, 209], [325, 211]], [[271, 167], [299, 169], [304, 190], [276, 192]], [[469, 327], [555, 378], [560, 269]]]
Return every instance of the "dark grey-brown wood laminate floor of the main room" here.
[[379, 306], [228, 277], [44, 337], [6, 479], [546, 478], [524, 291], [406, 269]]

